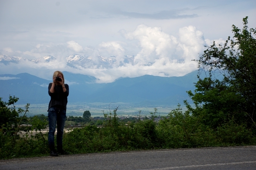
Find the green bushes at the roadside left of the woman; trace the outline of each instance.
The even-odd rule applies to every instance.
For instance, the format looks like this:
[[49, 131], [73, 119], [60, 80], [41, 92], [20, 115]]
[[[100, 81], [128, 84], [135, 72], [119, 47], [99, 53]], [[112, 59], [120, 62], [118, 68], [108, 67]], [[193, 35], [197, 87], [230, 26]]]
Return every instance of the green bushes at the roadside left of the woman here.
[[[0, 129], [0, 159], [8, 159], [12, 157], [27, 157], [33, 155], [45, 155], [48, 153], [48, 142], [45, 139], [47, 134], [41, 133], [42, 129], [46, 129], [48, 122], [46, 116], [38, 115], [34, 116], [31, 120], [25, 115], [28, 112], [29, 103], [25, 106], [26, 111], [23, 117], [18, 118], [18, 113], [24, 112], [23, 109], [16, 107], [14, 103], [18, 101], [15, 96], [9, 97], [9, 102], [3, 102], [0, 98], [1, 116], [5, 119], [2, 120]], [[12, 107], [9, 107], [12, 105]], [[24, 119], [25, 118], [25, 119]], [[23, 120], [24, 119], [24, 120]], [[5, 122], [3, 122], [5, 121]], [[8, 122], [9, 121], [9, 122]], [[21, 122], [31, 123], [33, 126], [27, 128], [20, 128]], [[10, 126], [13, 123], [14, 126]], [[30, 130], [36, 129], [40, 131], [36, 135]], [[25, 135], [21, 135], [20, 130], [26, 132]]]

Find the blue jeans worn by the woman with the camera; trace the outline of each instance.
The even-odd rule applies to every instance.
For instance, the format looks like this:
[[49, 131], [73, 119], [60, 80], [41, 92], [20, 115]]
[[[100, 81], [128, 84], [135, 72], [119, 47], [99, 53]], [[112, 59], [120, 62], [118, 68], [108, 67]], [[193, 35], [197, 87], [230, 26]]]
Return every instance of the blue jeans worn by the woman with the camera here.
[[55, 107], [51, 107], [48, 110], [49, 120], [49, 133], [48, 133], [48, 145], [54, 146], [54, 133], [57, 122], [57, 146], [62, 145], [62, 136], [66, 120], [66, 110], [61, 110]]

